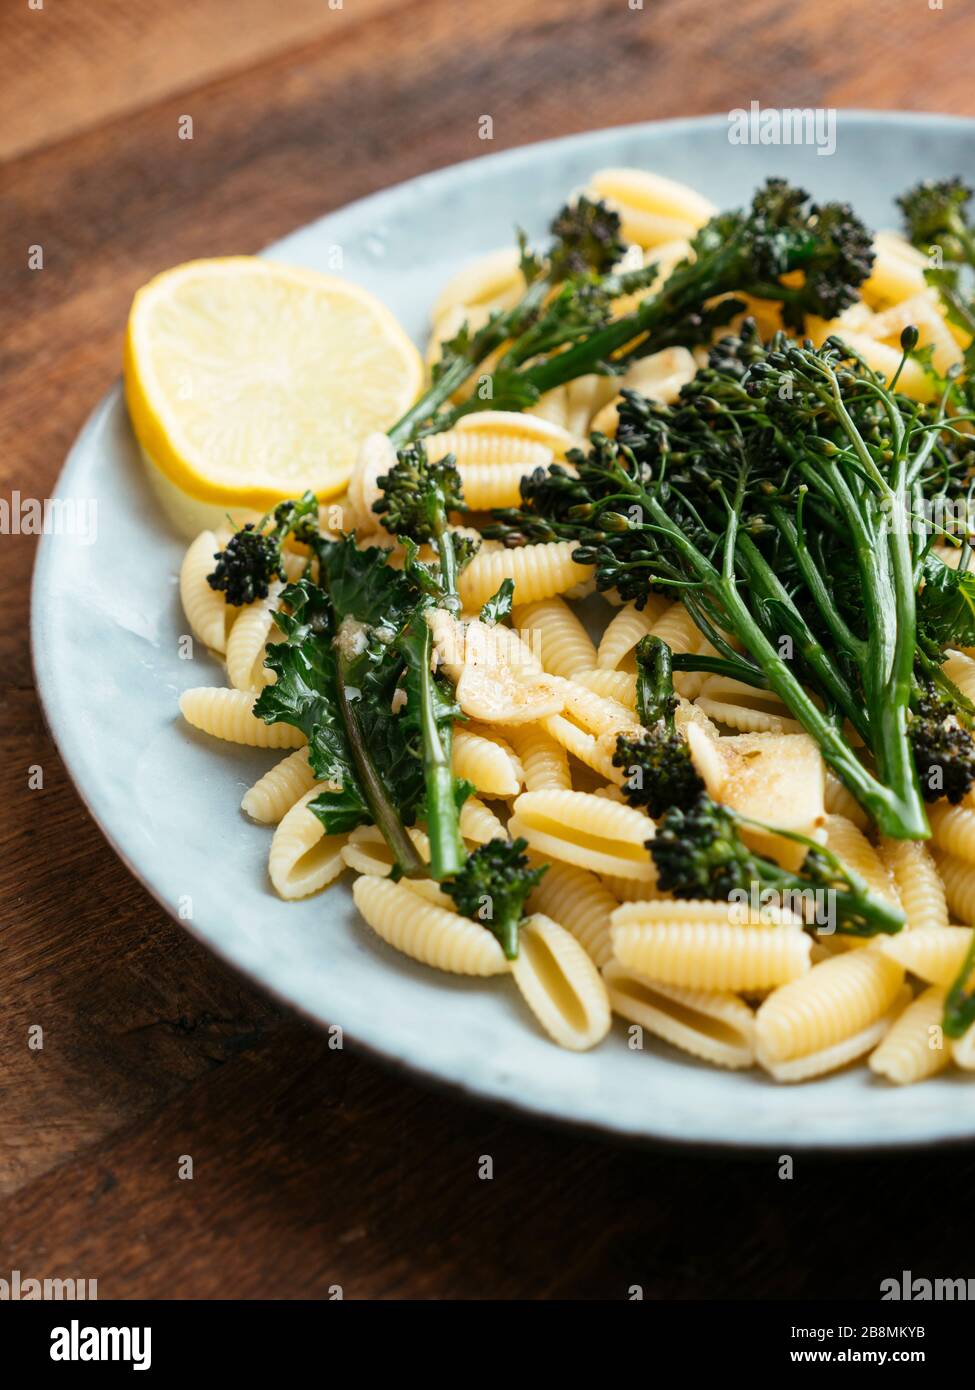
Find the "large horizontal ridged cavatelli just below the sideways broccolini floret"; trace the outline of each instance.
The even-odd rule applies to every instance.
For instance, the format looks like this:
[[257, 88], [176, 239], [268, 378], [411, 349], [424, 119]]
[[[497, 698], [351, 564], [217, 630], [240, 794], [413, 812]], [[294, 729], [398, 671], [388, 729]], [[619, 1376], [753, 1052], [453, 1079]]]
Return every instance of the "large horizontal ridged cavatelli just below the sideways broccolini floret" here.
[[[630, 970], [687, 990], [766, 990], [809, 969], [798, 923], [730, 917], [729, 903], [627, 902], [612, 917], [613, 955]], [[776, 920], [777, 919], [777, 920]]]

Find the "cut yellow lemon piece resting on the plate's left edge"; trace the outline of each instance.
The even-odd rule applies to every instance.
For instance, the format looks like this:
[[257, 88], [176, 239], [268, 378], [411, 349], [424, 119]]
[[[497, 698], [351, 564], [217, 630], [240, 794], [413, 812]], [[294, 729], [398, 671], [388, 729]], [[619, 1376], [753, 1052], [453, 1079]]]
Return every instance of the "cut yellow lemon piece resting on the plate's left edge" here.
[[[362, 439], [423, 385], [420, 354], [356, 285], [252, 256], [188, 261], [132, 302], [125, 399], [171, 513], [339, 493]], [[177, 520], [181, 517], [178, 516]]]

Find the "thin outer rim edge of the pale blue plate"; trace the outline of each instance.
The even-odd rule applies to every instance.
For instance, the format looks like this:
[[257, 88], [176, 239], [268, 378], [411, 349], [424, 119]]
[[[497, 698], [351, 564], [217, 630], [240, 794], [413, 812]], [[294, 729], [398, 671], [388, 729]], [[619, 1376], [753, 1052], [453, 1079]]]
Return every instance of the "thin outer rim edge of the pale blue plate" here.
[[[950, 126], [953, 129], [964, 131], [969, 129], [975, 133], [975, 117], [965, 115], [949, 115], [936, 111], [885, 111], [885, 110], [869, 110], [869, 108], [836, 108], [837, 121], [847, 125], [869, 125], [879, 124], [882, 126]], [[531, 163], [544, 150], [566, 146], [573, 147], [587, 147], [590, 145], [597, 146], [601, 142], [611, 140], [613, 136], [620, 133], [630, 133], [638, 136], [643, 132], [697, 132], [709, 131], [726, 125], [727, 113], [711, 113], [705, 115], [694, 117], [670, 117], [659, 121], [637, 121], [616, 126], [601, 126], [595, 131], [584, 131], [572, 135], [555, 136], [552, 139], [535, 140], [527, 145], [515, 146], [508, 150], [498, 150], [495, 153], [478, 154], [467, 160], [462, 160], [455, 164], [448, 164], [437, 170], [417, 174], [408, 179], [401, 179], [396, 183], [388, 185], [382, 189], [377, 189], [363, 197], [355, 199], [350, 203], [345, 203], [341, 207], [331, 208], [321, 217], [313, 218], [310, 222], [302, 224], [300, 227], [292, 228], [285, 236], [275, 239], [267, 246], [261, 247], [257, 253], [259, 256], [266, 256], [274, 259], [278, 249], [284, 246], [291, 238], [298, 234], [305, 234], [309, 229], [317, 227], [319, 224], [332, 218], [337, 214], [367, 214], [371, 211], [381, 210], [387, 200], [395, 200], [399, 192], [408, 186], [421, 185], [424, 188], [435, 188], [441, 183], [449, 183], [455, 179], [469, 181], [477, 172], [476, 167], [481, 165], [485, 160], [491, 163], [492, 168], [517, 168], [522, 163]], [[76, 453], [81, 453], [89, 441], [89, 436], [95, 435], [99, 430], [103, 417], [107, 417], [120, 403], [122, 398], [121, 392], [121, 377], [115, 377], [106, 393], [97, 400], [93, 409], [86, 416], [81, 430], [75, 435], [61, 468], [58, 470], [57, 478], [53, 484], [51, 493], [57, 495], [61, 488], [63, 478], [68, 468], [71, 467], [72, 459]], [[121, 399], [124, 410], [124, 399]], [[140, 872], [132, 858], [122, 848], [115, 834], [108, 828], [107, 823], [103, 820], [99, 810], [95, 808], [89, 795], [81, 780], [81, 769], [78, 767], [78, 760], [74, 755], [68, 756], [65, 752], [63, 731], [58, 727], [57, 720], [53, 716], [53, 709], [56, 708], [54, 698], [54, 660], [49, 653], [49, 644], [43, 641], [46, 614], [45, 614], [45, 581], [47, 571], [53, 564], [54, 546], [50, 543], [49, 535], [42, 535], [35, 552], [33, 570], [31, 577], [31, 591], [29, 591], [29, 646], [31, 646], [31, 664], [35, 680], [35, 689], [38, 695], [38, 702], [45, 719], [45, 724], [51, 737], [57, 755], [71, 778], [82, 805], [88, 815], [93, 819], [99, 831], [108, 842], [113, 853], [121, 860], [128, 873], [150, 894], [150, 897], [160, 905], [166, 915], [175, 922], [179, 927], [186, 930], [196, 941], [199, 941], [206, 949], [211, 951], [224, 965], [234, 969], [239, 976], [248, 979], [253, 984], [259, 986], [274, 999], [282, 1004], [285, 1008], [291, 1009], [293, 1013], [299, 1015], [302, 1019], [314, 1024], [317, 1029], [327, 1027], [328, 1024], [323, 1020], [320, 1015], [312, 1013], [302, 1004], [289, 998], [287, 992], [280, 990], [275, 984], [270, 983], [257, 967], [249, 967], [235, 958], [225, 944], [214, 941], [207, 935], [202, 927], [195, 920], [185, 920], [177, 916], [172, 905], [167, 902], [161, 894], [153, 887], [149, 878]], [[367, 1055], [371, 1061], [380, 1063], [387, 1070], [395, 1073], [401, 1077], [408, 1077], [410, 1081], [419, 1081], [420, 1084], [433, 1088], [435, 1091], [444, 1091], [451, 1095], [460, 1095], [466, 1102], [476, 1102], [478, 1105], [490, 1106], [495, 1111], [501, 1111], [506, 1115], [516, 1116], [519, 1119], [530, 1119], [533, 1123], [541, 1123], [549, 1127], [567, 1129], [576, 1133], [583, 1133], [602, 1138], [604, 1141], [612, 1141], [613, 1144], [626, 1144], [631, 1147], [641, 1147], [650, 1150], [669, 1151], [669, 1152], [695, 1152], [704, 1155], [718, 1156], [720, 1154], [737, 1154], [740, 1156], [754, 1156], [761, 1158], [768, 1152], [780, 1148], [783, 1143], [787, 1143], [791, 1150], [803, 1151], [811, 1155], [826, 1156], [830, 1154], [843, 1156], [855, 1156], [860, 1154], [871, 1152], [915, 1152], [918, 1150], [929, 1148], [958, 1148], [971, 1147], [975, 1144], [975, 1123], [969, 1134], [958, 1134], [957, 1131], [944, 1133], [943, 1130], [929, 1130], [921, 1136], [904, 1137], [900, 1134], [893, 1134], [886, 1137], [885, 1134], [873, 1134], [869, 1138], [860, 1138], [857, 1136], [836, 1136], [829, 1134], [819, 1137], [816, 1134], [801, 1134], [789, 1136], [784, 1131], [776, 1133], [772, 1137], [755, 1136], [751, 1137], [747, 1133], [740, 1133], [737, 1137], [680, 1137], [677, 1134], [666, 1131], [655, 1131], [648, 1129], [634, 1129], [626, 1125], [611, 1125], [602, 1123], [593, 1116], [569, 1115], [565, 1111], [548, 1109], [534, 1099], [519, 1097], [510, 1093], [499, 1093], [495, 1087], [490, 1084], [485, 1079], [481, 1083], [472, 1083], [467, 1079], [455, 1079], [442, 1074], [435, 1066], [427, 1065], [423, 1061], [413, 1061], [395, 1054], [392, 1045], [384, 1048], [378, 1042], [367, 1041], [355, 1033], [349, 1033], [344, 1029], [344, 1041], [349, 1044], [353, 1052], [362, 1052]]]

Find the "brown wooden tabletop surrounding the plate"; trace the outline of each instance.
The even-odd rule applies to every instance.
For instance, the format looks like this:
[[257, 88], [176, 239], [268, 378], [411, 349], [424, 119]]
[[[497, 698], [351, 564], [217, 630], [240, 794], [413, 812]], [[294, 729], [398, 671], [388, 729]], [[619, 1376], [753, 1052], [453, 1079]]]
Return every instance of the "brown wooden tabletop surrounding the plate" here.
[[[615, 122], [752, 99], [972, 114], [972, 44], [958, 0], [11, 0], [0, 495], [50, 495], [132, 292], [174, 261]], [[974, 1273], [971, 1150], [798, 1158], [789, 1182], [772, 1156], [618, 1148], [330, 1051], [102, 840], [32, 688], [32, 541], [1, 542], [0, 1276], [97, 1277], [102, 1297], [873, 1298], [904, 1268]]]

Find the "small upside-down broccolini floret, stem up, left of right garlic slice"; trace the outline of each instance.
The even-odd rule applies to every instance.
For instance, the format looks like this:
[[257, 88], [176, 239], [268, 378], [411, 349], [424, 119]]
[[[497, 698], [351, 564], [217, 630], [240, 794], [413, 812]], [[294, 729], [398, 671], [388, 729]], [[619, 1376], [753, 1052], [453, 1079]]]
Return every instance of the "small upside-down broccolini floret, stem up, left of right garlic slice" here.
[[613, 767], [626, 771], [623, 795], [631, 806], [645, 806], [656, 819], [670, 806], [687, 810], [704, 791], [690, 748], [675, 727], [670, 648], [659, 637], [637, 644], [638, 733], [619, 734]]

